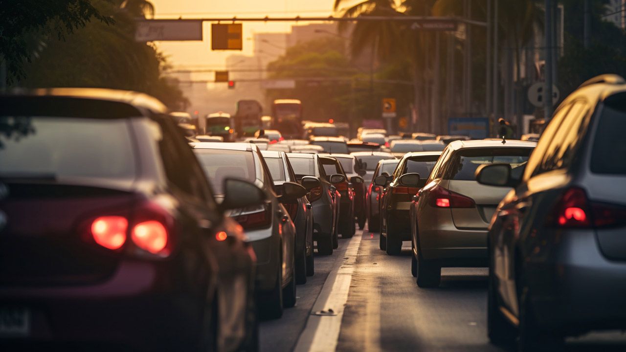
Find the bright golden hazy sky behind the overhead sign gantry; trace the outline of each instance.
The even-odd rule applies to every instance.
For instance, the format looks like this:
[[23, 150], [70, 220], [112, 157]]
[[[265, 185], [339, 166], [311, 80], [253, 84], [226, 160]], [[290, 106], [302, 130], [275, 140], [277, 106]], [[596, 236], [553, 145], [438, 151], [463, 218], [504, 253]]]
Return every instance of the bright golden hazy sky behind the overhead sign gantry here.
[[[202, 18], [249, 16], [328, 16], [332, 13], [334, 0], [151, 0], [155, 5], [155, 18]], [[259, 32], [287, 32], [295, 23], [245, 22], [244, 50], [211, 51], [210, 23], [204, 24], [204, 40], [186, 42], [159, 42], [158, 47], [175, 66], [225, 65], [230, 54], [252, 54], [252, 37]]]

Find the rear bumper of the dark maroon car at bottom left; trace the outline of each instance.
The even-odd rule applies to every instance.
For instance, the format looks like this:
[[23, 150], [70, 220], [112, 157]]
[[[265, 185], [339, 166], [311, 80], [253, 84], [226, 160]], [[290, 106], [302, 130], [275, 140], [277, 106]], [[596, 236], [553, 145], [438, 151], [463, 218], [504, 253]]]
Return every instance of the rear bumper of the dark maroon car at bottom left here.
[[207, 289], [214, 286], [202, 284], [202, 279], [207, 279], [202, 272], [193, 281], [186, 281], [171, 269], [165, 261], [125, 261], [113, 276], [98, 284], [3, 287], [0, 306], [30, 312], [29, 333], [3, 338], [3, 343], [106, 343], [145, 350], [193, 348], [199, 341], [205, 314], [210, 313]]

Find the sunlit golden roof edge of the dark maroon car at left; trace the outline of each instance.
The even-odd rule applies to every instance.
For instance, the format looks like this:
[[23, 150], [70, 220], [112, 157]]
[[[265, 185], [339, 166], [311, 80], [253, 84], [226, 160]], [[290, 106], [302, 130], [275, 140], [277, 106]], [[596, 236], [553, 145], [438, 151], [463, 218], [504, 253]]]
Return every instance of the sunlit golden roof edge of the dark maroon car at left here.
[[168, 108], [153, 96], [138, 91], [113, 90], [105, 88], [39, 88], [34, 90], [16, 89], [0, 99], [14, 99], [15, 97], [56, 97], [86, 100], [114, 101], [154, 111], [167, 113]]

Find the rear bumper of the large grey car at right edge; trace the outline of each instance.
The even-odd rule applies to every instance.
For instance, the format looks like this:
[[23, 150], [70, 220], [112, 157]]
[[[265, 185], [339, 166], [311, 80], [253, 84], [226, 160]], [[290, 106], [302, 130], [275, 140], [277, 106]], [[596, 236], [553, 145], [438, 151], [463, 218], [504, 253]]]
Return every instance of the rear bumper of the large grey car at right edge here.
[[625, 329], [626, 262], [607, 260], [593, 230], [547, 236], [560, 243], [533, 248], [525, 271], [539, 323], [569, 333]]

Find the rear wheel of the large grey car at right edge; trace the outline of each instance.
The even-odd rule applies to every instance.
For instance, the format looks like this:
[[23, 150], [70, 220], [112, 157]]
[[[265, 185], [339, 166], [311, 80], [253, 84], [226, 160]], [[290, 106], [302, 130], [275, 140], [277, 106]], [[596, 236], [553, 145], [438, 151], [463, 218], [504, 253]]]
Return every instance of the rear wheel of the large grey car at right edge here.
[[563, 347], [563, 336], [542, 331], [535, 319], [535, 311], [530, 301], [530, 292], [525, 285], [518, 294], [520, 306], [520, 338], [518, 350], [529, 351], [558, 351]]

